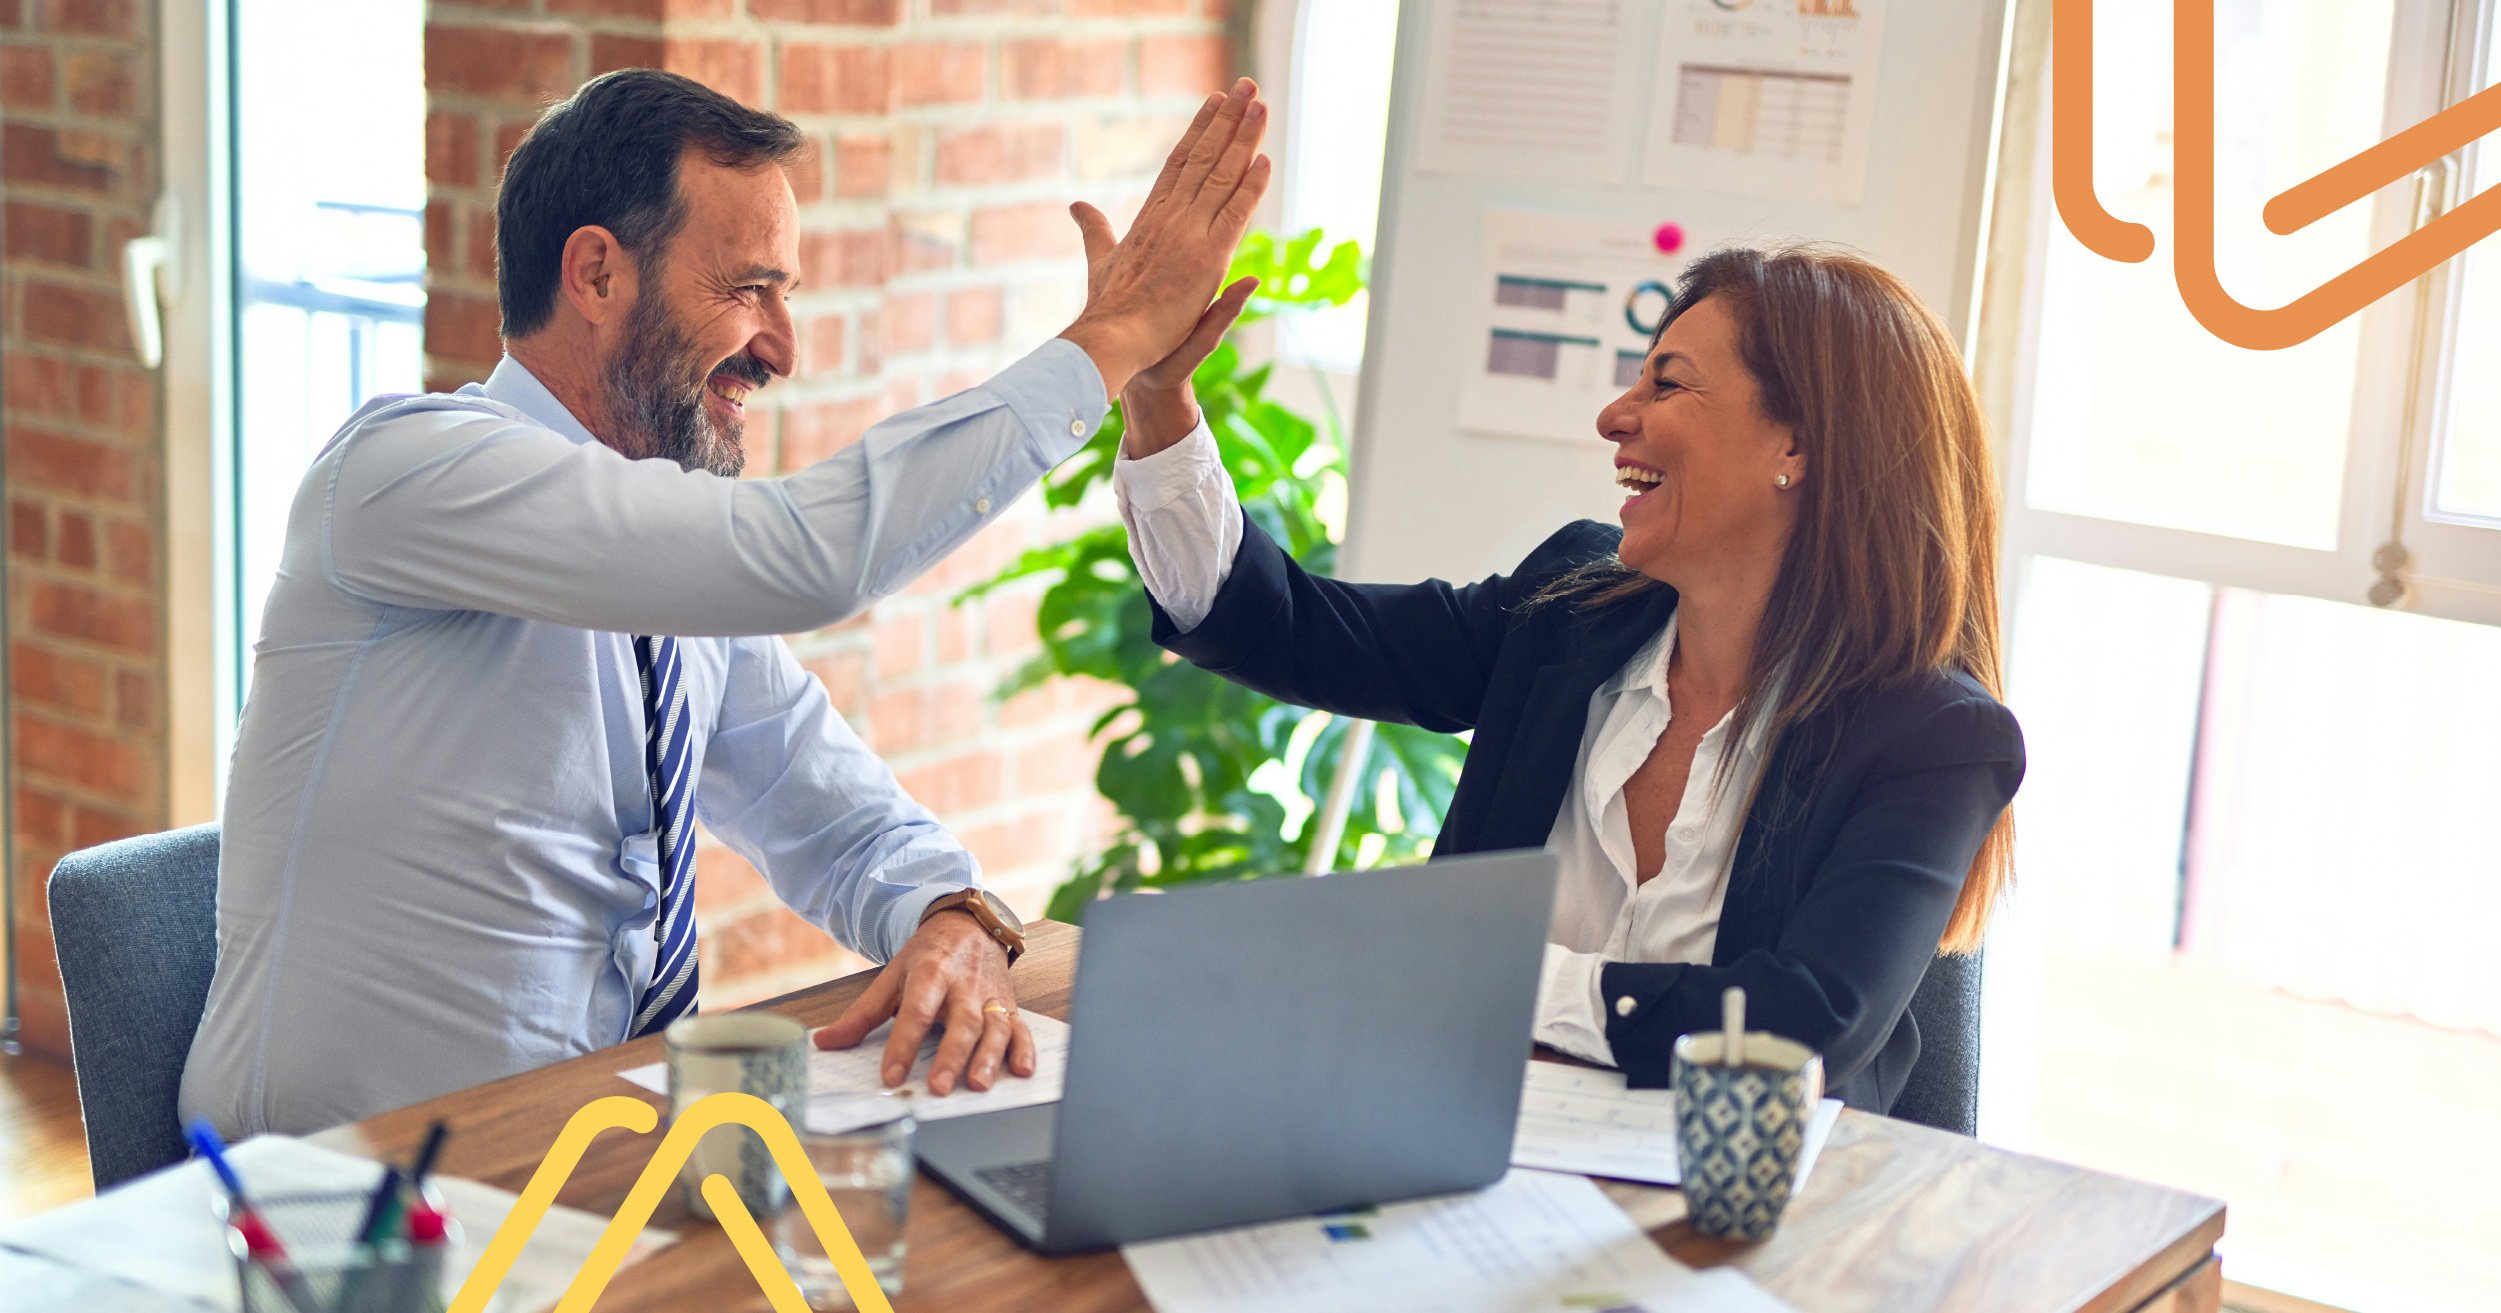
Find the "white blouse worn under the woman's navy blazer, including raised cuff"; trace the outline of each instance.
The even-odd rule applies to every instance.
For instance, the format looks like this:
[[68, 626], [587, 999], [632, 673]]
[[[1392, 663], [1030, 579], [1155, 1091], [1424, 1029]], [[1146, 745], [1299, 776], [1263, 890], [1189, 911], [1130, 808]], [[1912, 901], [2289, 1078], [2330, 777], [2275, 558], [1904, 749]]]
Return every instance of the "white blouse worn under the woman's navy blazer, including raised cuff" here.
[[[1198, 628], [1240, 550], [1240, 503], [1200, 420], [1180, 443], [1145, 460], [1113, 465], [1113, 495], [1145, 590], [1183, 630]], [[1746, 800], [1763, 775], [1763, 733], [1731, 753], [1728, 718], [1693, 750], [1686, 793], [1668, 820], [1666, 865], [1636, 880], [1633, 828], [1623, 785], [1648, 760], [1673, 720], [1668, 658], [1676, 620], [1646, 643], [1616, 678], [1588, 695], [1588, 720], [1571, 788], [1546, 845], [1561, 858], [1556, 918], [1538, 988], [1536, 1038], [1596, 1063], [1616, 1060], [1606, 1043], [1598, 968], [1606, 963], [1711, 963], [1728, 870], [1746, 828]], [[1731, 713], [1733, 715], [1733, 713]]]

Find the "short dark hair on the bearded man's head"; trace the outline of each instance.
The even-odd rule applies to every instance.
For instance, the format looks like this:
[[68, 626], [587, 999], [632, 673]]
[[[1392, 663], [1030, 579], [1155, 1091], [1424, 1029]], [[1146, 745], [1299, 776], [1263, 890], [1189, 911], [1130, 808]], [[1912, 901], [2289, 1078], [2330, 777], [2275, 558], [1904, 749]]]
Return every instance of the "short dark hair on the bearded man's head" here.
[[808, 138], [788, 118], [655, 68], [603, 73], [538, 115], [495, 195], [505, 338], [528, 338], [555, 313], [565, 238], [580, 228], [615, 233], [648, 278], [685, 223], [678, 158], [688, 148], [723, 168], [763, 168], [798, 158]]

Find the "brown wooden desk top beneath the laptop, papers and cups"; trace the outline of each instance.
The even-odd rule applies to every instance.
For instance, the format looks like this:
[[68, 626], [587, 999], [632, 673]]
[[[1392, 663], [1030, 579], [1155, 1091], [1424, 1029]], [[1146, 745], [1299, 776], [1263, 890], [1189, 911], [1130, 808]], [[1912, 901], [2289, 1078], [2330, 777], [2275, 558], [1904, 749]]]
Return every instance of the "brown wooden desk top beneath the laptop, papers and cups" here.
[[[1068, 1015], [1078, 930], [1040, 923], [1015, 963], [1028, 1008]], [[833, 1020], [865, 988], [850, 975], [763, 1008], [808, 1025]], [[433, 1118], [453, 1123], [440, 1170], [520, 1190], [580, 1105], [600, 1095], [665, 1100], [615, 1073], [660, 1060], [645, 1038], [343, 1125], [315, 1143], [405, 1160]], [[613, 1215], [655, 1135], [608, 1133], [558, 1195]], [[1636, 1220], [1691, 1265], [1736, 1263], [1801, 1313], [2191, 1313], [2221, 1303], [2213, 1243], [2223, 1205], [2116, 1175], [2003, 1153], [1961, 1135], [1846, 1110], [1781, 1230], [1761, 1245], [1706, 1240], [1683, 1223], [1683, 1195], [1606, 1183]], [[625, 1268], [600, 1310], [733, 1313], [768, 1308], [728, 1238], [685, 1215], [675, 1190], [653, 1218], [683, 1238]], [[1140, 1310], [1118, 1253], [1035, 1258], [945, 1188], [913, 1185], [903, 1310]]]

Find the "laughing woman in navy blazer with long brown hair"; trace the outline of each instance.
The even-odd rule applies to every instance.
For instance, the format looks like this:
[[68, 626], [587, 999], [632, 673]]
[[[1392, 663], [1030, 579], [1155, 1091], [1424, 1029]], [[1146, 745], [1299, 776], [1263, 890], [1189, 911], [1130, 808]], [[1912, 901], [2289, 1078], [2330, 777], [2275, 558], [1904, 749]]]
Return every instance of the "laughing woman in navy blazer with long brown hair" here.
[[1666, 1085], [1676, 1035], [1743, 985], [1751, 1028], [1888, 1110], [1911, 990], [1978, 948], [2023, 778], [1996, 480], [1946, 325], [1853, 255], [1711, 253], [1598, 413], [1621, 530], [1381, 588], [1243, 520], [1188, 393], [1228, 305], [1123, 395], [1155, 640], [1288, 703], [1476, 730], [1436, 853], [1561, 855], [1541, 1043]]

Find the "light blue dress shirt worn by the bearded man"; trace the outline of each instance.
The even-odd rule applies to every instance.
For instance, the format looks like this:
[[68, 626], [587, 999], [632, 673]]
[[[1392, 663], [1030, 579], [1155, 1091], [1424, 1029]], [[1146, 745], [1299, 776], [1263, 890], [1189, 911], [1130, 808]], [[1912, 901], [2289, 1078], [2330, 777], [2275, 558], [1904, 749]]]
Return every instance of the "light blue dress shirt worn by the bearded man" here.
[[660, 885], [635, 633], [680, 638], [695, 815], [893, 955], [980, 873], [773, 635], [923, 573], [1105, 410], [1053, 340], [778, 480], [628, 460], [510, 358], [350, 418], [253, 653], [183, 1115], [308, 1133], [625, 1038]]

